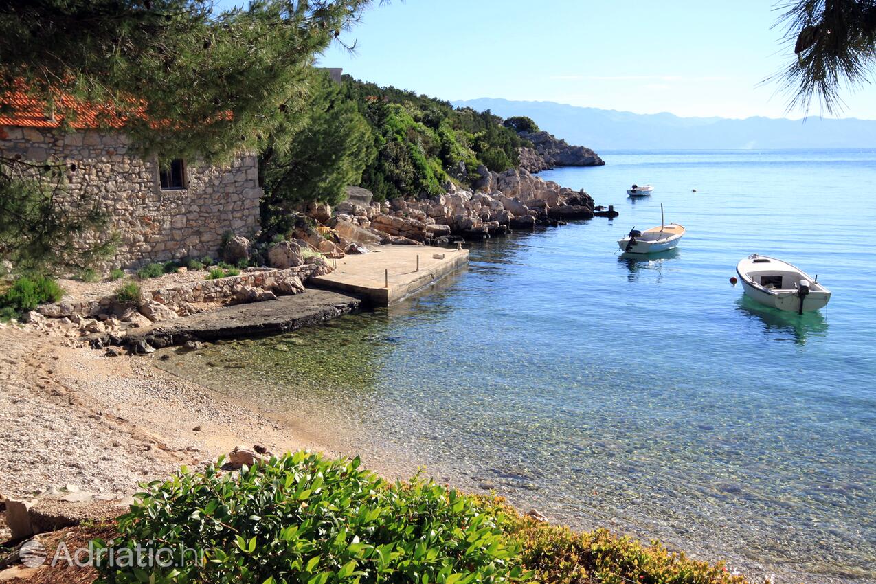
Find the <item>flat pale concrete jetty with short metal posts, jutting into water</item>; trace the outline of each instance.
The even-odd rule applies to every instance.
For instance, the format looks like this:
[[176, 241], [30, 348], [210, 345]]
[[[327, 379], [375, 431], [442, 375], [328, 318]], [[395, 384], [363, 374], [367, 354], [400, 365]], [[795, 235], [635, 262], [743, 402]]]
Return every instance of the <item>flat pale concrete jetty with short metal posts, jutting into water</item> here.
[[366, 254], [337, 260], [334, 271], [311, 278], [309, 285], [355, 294], [371, 306], [389, 306], [468, 263], [468, 250], [381, 245]]

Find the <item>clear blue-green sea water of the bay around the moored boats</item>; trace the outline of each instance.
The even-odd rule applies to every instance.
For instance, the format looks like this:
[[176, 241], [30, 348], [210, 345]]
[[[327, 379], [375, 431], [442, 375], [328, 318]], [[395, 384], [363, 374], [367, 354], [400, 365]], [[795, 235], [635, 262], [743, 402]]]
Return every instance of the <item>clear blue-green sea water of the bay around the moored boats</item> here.
[[[541, 176], [613, 221], [470, 244], [467, 271], [389, 311], [162, 366], [578, 528], [876, 582], [876, 151], [600, 154]], [[661, 203], [679, 248], [618, 257]], [[745, 299], [729, 278], [754, 252], [817, 274], [830, 305]]]

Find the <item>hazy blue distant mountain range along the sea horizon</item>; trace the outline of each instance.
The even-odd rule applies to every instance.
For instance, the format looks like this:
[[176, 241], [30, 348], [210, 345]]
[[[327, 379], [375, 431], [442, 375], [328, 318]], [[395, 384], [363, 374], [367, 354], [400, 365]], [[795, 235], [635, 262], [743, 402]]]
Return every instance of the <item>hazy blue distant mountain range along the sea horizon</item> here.
[[452, 102], [497, 116], [529, 116], [541, 130], [600, 150], [876, 148], [876, 120], [679, 117], [482, 97]]

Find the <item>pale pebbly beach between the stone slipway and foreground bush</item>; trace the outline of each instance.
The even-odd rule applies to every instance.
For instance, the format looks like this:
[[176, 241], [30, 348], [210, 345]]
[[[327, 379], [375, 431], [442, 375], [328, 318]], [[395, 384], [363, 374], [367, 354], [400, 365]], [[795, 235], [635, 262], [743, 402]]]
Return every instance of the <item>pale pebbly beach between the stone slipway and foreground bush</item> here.
[[0, 355], [4, 496], [67, 484], [127, 495], [238, 444], [343, 454], [148, 357], [108, 357], [11, 326], [0, 327]]

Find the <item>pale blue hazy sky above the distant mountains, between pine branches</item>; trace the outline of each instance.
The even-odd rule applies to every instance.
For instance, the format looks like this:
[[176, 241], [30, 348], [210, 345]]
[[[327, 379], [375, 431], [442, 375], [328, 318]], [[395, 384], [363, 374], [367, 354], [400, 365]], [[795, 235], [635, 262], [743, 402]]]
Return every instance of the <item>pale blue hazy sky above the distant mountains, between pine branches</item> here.
[[[321, 64], [447, 100], [800, 117], [760, 85], [793, 55], [780, 14], [770, 0], [392, 0], [344, 37], [356, 54], [334, 46]], [[876, 119], [876, 85], [845, 95], [843, 117]]]

